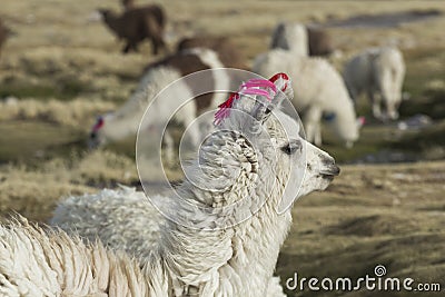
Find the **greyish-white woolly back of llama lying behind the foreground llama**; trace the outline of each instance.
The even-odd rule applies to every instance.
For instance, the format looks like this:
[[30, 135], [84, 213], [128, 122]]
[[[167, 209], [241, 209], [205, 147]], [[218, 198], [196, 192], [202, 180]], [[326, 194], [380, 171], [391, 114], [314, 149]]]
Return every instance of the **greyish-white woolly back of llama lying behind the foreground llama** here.
[[144, 258], [156, 248], [162, 221], [144, 192], [122, 187], [69, 197], [58, 205], [50, 224], [69, 235], [100, 239], [113, 250]]

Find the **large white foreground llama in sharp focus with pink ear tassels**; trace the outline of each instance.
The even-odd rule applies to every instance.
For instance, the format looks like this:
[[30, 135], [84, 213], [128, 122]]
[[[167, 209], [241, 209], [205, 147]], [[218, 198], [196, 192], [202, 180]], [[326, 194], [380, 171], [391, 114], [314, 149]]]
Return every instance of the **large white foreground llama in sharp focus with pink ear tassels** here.
[[283, 200], [324, 190], [339, 172], [334, 159], [306, 142], [298, 123], [277, 110], [286, 97], [279, 90], [291, 96], [285, 75], [248, 81], [221, 105], [220, 129], [189, 165], [205, 188], [185, 180], [177, 188], [180, 199], [152, 197], [175, 217], [160, 222], [158, 244], [142, 268], [62, 231], [0, 225], [1, 293], [265, 296], [291, 225]]

